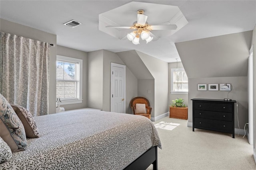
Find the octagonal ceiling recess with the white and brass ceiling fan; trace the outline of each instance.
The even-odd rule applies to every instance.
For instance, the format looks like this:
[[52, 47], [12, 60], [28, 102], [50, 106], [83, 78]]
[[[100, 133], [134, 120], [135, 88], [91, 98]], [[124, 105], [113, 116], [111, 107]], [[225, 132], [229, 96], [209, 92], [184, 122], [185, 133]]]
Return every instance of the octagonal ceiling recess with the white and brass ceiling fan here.
[[130, 2], [99, 14], [100, 31], [134, 44], [140, 39], [148, 43], [171, 36], [187, 23], [178, 6], [144, 2]]

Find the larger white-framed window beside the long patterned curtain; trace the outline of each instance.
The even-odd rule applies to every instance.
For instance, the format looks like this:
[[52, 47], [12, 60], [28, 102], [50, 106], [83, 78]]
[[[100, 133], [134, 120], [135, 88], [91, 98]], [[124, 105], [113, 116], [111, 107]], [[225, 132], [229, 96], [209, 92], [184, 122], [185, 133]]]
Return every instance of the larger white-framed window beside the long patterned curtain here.
[[82, 102], [82, 60], [57, 55], [56, 97], [59, 104]]

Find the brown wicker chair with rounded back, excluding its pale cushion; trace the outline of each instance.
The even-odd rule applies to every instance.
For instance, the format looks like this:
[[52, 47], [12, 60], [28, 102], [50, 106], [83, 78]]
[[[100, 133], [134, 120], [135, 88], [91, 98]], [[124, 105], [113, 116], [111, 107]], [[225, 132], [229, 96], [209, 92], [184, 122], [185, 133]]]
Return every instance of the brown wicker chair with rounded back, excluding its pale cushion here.
[[[146, 104], [146, 113], [136, 113], [135, 112], [136, 104]], [[132, 111], [134, 115], [142, 115], [142, 116], [148, 117], [148, 119], [151, 118], [152, 107], [150, 106], [148, 99], [144, 97], [133, 98], [130, 102], [130, 106], [132, 107]]]

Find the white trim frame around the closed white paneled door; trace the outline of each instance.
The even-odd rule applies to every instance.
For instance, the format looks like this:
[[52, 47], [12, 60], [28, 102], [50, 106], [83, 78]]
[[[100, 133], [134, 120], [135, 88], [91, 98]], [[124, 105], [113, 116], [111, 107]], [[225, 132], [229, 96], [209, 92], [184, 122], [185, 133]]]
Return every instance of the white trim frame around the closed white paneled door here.
[[124, 68], [124, 113], [126, 112], [126, 66], [123, 64], [117, 64], [117, 63], [110, 63], [111, 64], [111, 69], [110, 69], [110, 111], [112, 110], [112, 94], [113, 94], [113, 88], [112, 88], [112, 84], [113, 84], [113, 66], [115, 67], [120, 67], [120, 68]]

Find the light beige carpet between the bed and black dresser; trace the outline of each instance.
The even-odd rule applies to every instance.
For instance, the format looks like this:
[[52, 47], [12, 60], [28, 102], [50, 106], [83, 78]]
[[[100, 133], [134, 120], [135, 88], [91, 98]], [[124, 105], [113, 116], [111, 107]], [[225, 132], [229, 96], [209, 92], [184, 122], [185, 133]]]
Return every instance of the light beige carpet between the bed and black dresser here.
[[[187, 120], [164, 117], [157, 127], [158, 170], [256, 170], [253, 146], [243, 135], [187, 127]], [[147, 170], [152, 170], [152, 165]]]

